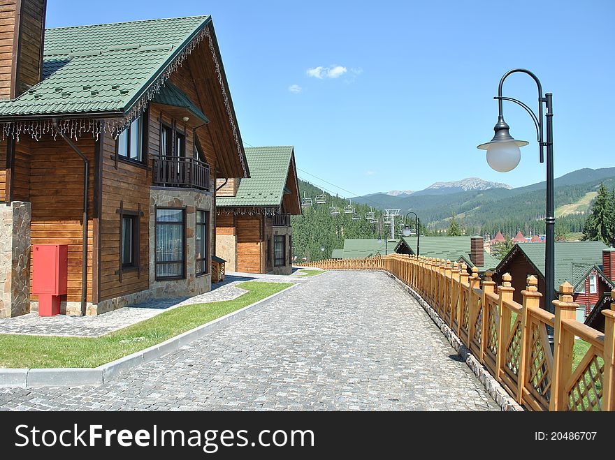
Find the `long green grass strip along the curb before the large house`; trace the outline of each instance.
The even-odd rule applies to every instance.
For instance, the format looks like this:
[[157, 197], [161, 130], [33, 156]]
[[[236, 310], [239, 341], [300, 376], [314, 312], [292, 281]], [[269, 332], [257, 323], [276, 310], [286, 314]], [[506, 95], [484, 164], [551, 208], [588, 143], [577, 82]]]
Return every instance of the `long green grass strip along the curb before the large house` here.
[[0, 368], [100, 366], [254, 304], [291, 285], [247, 281], [238, 287], [249, 292], [237, 299], [180, 306], [96, 338], [0, 334]]

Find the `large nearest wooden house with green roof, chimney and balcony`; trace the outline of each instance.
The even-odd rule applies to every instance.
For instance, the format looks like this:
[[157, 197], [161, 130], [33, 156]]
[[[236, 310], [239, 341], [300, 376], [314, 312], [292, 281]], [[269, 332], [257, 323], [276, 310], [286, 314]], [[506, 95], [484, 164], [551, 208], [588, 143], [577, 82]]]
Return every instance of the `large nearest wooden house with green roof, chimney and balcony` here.
[[0, 11], [0, 316], [36, 310], [36, 244], [68, 245], [69, 314], [209, 290], [214, 184], [249, 176], [211, 18]]

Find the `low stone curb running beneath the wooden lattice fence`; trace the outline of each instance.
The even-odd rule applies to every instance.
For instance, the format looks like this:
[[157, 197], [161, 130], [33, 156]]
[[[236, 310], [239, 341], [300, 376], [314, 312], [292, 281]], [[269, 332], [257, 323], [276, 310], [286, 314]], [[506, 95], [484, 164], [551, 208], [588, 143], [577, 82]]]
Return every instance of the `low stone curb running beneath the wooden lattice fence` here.
[[403, 281], [397, 278], [397, 276], [390, 274], [388, 272], [384, 272], [395, 281], [397, 281], [402, 288], [408, 292], [414, 299], [419, 302], [419, 305], [423, 307], [423, 309], [430, 316], [431, 320], [435, 323], [437, 327], [440, 328], [442, 334], [447, 338], [451, 346], [455, 349], [459, 356], [463, 358], [465, 364], [468, 365], [470, 370], [475, 373], [475, 376], [480, 380], [480, 382], [485, 387], [487, 393], [493, 398], [493, 400], [498, 403], [498, 406], [502, 410], [505, 411], [521, 411], [523, 412], [523, 408], [519, 406], [519, 403], [514, 401], [511, 396], [506, 392], [506, 390], [500, 385], [498, 380], [487, 371], [484, 366], [479, 362], [479, 360], [470, 353], [470, 350], [463, 344], [461, 339], [452, 331], [452, 329], [447, 325], [446, 322], [437, 314], [437, 312], [431, 308], [431, 306], [421, 297], [418, 292], [414, 289], [410, 288], [410, 286], [406, 285]]

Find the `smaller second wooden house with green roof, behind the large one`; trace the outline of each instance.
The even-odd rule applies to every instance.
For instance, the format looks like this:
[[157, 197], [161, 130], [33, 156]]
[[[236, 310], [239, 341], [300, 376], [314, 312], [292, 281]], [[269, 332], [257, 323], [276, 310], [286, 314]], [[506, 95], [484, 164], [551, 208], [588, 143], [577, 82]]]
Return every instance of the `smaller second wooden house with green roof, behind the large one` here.
[[249, 179], [218, 179], [216, 255], [227, 272], [291, 274], [301, 214], [293, 147], [245, 149]]

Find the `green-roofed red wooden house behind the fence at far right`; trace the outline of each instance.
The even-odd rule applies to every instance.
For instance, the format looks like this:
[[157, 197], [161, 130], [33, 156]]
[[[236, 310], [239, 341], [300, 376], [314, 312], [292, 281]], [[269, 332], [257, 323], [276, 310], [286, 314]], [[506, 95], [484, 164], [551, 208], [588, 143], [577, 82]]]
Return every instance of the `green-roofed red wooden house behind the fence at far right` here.
[[[538, 290], [544, 295], [544, 249], [544, 244], [516, 244], [495, 268], [493, 281], [500, 284], [503, 274], [511, 274], [515, 289], [513, 299], [521, 303], [526, 279], [535, 275]], [[602, 294], [615, 287], [613, 267], [605, 263], [610, 260], [611, 253], [612, 248], [602, 242], [555, 243], [555, 284], [552, 288], [558, 292], [564, 281], [574, 286], [574, 302], [579, 304], [577, 319], [581, 322]], [[544, 298], [540, 299], [540, 306], [544, 308]]]

